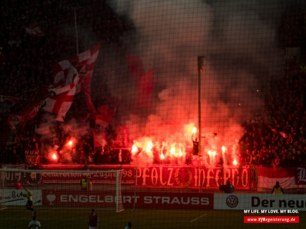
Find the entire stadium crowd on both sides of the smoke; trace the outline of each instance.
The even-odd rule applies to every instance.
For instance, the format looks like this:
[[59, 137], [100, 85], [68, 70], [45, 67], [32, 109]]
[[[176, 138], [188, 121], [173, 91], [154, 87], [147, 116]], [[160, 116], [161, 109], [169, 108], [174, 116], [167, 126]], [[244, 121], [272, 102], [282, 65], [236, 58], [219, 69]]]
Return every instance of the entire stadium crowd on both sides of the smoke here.
[[[67, 36], [65, 30], [68, 28], [63, 28], [64, 25], [69, 25], [69, 28], [74, 29], [74, 10], [77, 10], [79, 24], [92, 28], [99, 40], [120, 45], [120, 35], [132, 29], [131, 24], [116, 15], [104, 1], [92, 0], [90, 6], [87, 5], [92, 8], [93, 13], [90, 14], [81, 7], [86, 2], [2, 1], [0, 95], [19, 98], [14, 106], [0, 112], [2, 135], [6, 134], [3, 124], [7, 122], [9, 115], [15, 115], [18, 121], [28, 103], [45, 98], [46, 89], [54, 78], [52, 71], [46, 69], [52, 69], [54, 63], [75, 56], [76, 47], [72, 44], [75, 44], [76, 38]], [[34, 29], [35, 33], [29, 33], [27, 28]], [[287, 29], [294, 30], [296, 27]], [[292, 39], [291, 43], [296, 43], [296, 39]], [[273, 87], [265, 98], [268, 119], [257, 117], [243, 124], [246, 133], [239, 141], [242, 165], [306, 166], [305, 77], [302, 66], [301, 72], [289, 72], [285, 76], [278, 76], [272, 82]], [[76, 95], [71, 112], [67, 113], [67, 119], [75, 114], [83, 115], [84, 109], [84, 96]], [[17, 136], [15, 144], [0, 146], [0, 164], [23, 164], [25, 149], [38, 150], [43, 147], [41, 136], [35, 131], [40, 119], [39, 111], [34, 119], [27, 121], [22, 130], [19, 128], [14, 131]], [[94, 124], [92, 128], [95, 128]], [[113, 141], [112, 127], [105, 131], [110, 143]], [[62, 134], [60, 125], [56, 129], [56, 135], [58, 142], [53, 144], [59, 146], [64, 144], [68, 137]], [[89, 142], [93, 142], [90, 137], [80, 139], [76, 147], [76, 151], [83, 151], [86, 158], [95, 154]], [[97, 159], [99, 163], [118, 163], [118, 156], [111, 150], [101, 155]]]

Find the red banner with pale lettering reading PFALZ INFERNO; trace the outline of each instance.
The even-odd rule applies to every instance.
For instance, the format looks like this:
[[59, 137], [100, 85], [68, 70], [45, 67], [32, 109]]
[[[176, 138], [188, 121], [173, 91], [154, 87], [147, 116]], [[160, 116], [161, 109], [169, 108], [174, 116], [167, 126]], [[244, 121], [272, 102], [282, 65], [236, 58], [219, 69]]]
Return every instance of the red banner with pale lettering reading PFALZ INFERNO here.
[[137, 186], [144, 188], [219, 189], [229, 180], [235, 189], [250, 189], [249, 168], [148, 166], [137, 167]]

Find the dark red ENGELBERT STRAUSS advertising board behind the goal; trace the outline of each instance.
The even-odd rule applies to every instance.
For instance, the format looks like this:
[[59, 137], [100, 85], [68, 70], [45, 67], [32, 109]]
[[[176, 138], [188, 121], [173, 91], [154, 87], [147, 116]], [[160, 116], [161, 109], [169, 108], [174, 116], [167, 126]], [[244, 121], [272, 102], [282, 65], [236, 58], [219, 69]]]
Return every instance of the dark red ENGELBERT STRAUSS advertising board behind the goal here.
[[[115, 207], [112, 193], [99, 191], [43, 190], [42, 205], [48, 207]], [[124, 192], [121, 200], [125, 208], [175, 208], [213, 209], [213, 194], [167, 193], [167, 192]]]

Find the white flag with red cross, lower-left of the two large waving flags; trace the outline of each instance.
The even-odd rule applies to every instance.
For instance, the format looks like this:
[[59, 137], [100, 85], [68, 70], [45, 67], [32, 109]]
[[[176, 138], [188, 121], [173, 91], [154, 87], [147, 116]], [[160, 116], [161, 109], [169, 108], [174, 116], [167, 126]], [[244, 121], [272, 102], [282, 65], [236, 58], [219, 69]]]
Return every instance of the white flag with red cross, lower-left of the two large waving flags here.
[[60, 122], [64, 121], [64, 117], [71, 107], [79, 80], [75, 67], [71, 66], [67, 74], [66, 78], [72, 79], [74, 77], [73, 81], [68, 85], [60, 85], [58, 87], [51, 85], [48, 91], [53, 95], [45, 99], [46, 105], [43, 107], [43, 110], [57, 114], [56, 120]]

